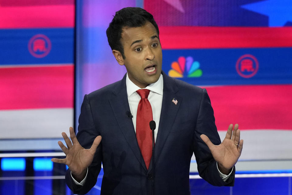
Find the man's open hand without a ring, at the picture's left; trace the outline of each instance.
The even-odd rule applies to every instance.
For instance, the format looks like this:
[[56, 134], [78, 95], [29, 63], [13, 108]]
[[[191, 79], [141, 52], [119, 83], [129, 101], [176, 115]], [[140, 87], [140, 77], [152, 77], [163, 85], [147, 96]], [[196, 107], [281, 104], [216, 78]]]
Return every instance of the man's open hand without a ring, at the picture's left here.
[[85, 178], [87, 167], [89, 167], [92, 163], [96, 148], [101, 141], [101, 136], [97, 136], [95, 138], [91, 148], [85, 149], [79, 144], [73, 128], [70, 127], [69, 130], [72, 143], [67, 134], [64, 132], [62, 133], [62, 136], [67, 144], [67, 147], [65, 147], [61, 141], [58, 141], [62, 151], [66, 154], [66, 158], [52, 158], [51, 161], [68, 165], [74, 179], [80, 182]]

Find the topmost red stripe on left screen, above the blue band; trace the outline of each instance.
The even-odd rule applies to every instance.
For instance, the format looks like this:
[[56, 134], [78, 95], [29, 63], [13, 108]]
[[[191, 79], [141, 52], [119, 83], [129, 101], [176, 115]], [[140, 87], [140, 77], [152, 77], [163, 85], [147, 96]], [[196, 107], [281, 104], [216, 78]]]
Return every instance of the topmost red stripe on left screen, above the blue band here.
[[74, 5], [0, 6], [0, 29], [74, 27]]

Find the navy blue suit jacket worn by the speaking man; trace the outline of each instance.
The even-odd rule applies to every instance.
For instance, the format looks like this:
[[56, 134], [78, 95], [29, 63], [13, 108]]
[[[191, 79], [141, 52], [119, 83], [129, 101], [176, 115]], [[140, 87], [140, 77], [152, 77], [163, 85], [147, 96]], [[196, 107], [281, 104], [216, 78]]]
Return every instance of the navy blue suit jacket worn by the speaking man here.
[[[221, 143], [207, 91], [162, 74], [163, 100], [154, 157], [155, 194], [190, 194], [193, 153], [203, 179], [215, 186], [232, 186], [235, 168], [224, 182], [200, 138], [205, 134], [214, 144]], [[177, 105], [173, 98], [178, 100]], [[85, 95], [77, 139], [84, 148], [90, 148], [98, 135], [102, 140], [83, 186], [75, 185], [68, 169], [66, 182], [74, 193], [85, 194], [95, 185], [103, 162], [101, 194], [151, 194], [152, 162], [147, 170], [127, 111], [126, 76]]]

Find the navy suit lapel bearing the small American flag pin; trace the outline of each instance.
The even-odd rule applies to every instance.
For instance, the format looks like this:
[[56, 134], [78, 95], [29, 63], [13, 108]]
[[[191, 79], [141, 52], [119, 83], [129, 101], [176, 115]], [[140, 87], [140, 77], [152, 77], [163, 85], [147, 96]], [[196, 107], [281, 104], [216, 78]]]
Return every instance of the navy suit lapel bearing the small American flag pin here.
[[[179, 110], [179, 107], [182, 102], [182, 97], [176, 95], [176, 92], [179, 88], [176, 86], [176, 83], [167, 76], [163, 71], [163, 98], [162, 98], [162, 107], [159, 120], [159, 129], [154, 147], [154, 163], [157, 162], [159, 155], [165, 145], [166, 139], [169, 135], [170, 130], [172, 129], [172, 124], [176, 118], [176, 114]], [[178, 100], [177, 105], [172, 102], [172, 99], [176, 98]], [[150, 166], [148, 168], [148, 173], [152, 169], [152, 159]]]

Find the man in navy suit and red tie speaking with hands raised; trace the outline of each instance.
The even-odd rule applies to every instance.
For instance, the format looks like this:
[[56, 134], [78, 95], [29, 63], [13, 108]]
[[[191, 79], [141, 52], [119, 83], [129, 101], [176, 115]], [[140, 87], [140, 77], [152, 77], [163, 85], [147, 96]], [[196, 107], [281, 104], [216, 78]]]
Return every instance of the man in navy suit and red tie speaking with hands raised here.
[[106, 33], [116, 61], [126, 67], [127, 74], [85, 95], [77, 138], [70, 128], [73, 144], [62, 133], [67, 147], [61, 141], [58, 144], [66, 158], [52, 161], [68, 165], [69, 188], [87, 193], [103, 162], [101, 194], [151, 194], [148, 124], [152, 119], [156, 122], [155, 194], [190, 194], [193, 153], [203, 179], [215, 186], [232, 186], [234, 165], [243, 146], [238, 125], [233, 134], [233, 125], [228, 127], [221, 144], [206, 90], [162, 71], [159, 30], [153, 16], [141, 8], [121, 9]]

